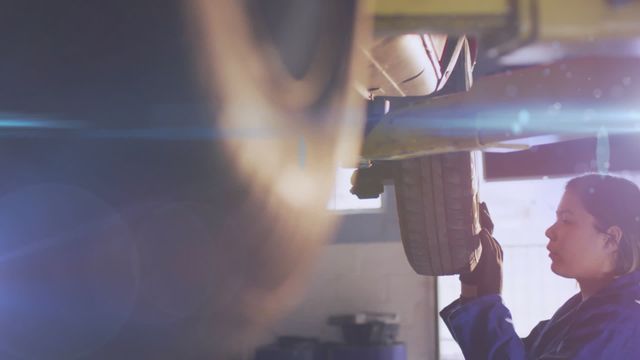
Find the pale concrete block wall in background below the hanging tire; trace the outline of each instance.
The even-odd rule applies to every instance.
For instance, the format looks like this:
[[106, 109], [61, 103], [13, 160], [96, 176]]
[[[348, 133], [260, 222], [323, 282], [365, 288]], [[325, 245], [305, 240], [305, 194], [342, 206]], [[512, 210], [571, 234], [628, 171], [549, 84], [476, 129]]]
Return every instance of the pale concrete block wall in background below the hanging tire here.
[[302, 301], [270, 335], [337, 341], [339, 329], [327, 324], [328, 316], [395, 312], [409, 359], [436, 359], [435, 299], [435, 279], [413, 272], [400, 241], [334, 244], [324, 249]]

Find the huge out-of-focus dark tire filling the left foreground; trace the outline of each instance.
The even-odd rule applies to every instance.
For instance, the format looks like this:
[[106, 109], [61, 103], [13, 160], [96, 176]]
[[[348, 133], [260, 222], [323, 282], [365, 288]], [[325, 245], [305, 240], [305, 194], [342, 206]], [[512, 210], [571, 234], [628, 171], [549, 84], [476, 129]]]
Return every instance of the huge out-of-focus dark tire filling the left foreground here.
[[[0, 213], [51, 210], [0, 233], [29, 245], [0, 249], [19, 254], [3, 263], [15, 286], [0, 288], [14, 290], [0, 321], [24, 325], [0, 332], [0, 358], [245, 357], [332, 236], [338, 160], [355, 160], [362, 137], [364, 5], [9, 1], [0, 112], [17, 120], [3, 132]], [[277, 34], [294, 44], [278, 50]], [[102, 251], [113, 223], [127, 238], [109, 239], [128, 247]], [[40, 251], [50, 239], [68, 251]]]

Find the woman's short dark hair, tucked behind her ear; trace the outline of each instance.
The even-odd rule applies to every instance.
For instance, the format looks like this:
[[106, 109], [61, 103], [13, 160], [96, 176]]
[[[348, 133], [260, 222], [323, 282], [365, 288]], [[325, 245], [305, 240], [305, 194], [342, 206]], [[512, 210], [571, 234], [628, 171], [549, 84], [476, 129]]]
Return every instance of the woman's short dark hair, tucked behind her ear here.
[[582, 201], [595, 218], [596, 230], [622, 229], [616, 256], [616, 275], [640, 267], [640, 189], [633, 182], [611, 175], [587, 174], [569, 180], [565, 191]]

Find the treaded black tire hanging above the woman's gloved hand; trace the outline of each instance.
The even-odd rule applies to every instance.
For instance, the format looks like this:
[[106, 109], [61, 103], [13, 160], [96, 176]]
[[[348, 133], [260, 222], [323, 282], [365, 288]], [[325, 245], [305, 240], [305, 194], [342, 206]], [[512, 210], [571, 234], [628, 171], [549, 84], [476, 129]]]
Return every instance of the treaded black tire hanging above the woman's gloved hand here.
[[395, 191], [402, 244], [421, 275], [451, 275], [479, 259], [478, 191], [472, 153], [400, 160]]

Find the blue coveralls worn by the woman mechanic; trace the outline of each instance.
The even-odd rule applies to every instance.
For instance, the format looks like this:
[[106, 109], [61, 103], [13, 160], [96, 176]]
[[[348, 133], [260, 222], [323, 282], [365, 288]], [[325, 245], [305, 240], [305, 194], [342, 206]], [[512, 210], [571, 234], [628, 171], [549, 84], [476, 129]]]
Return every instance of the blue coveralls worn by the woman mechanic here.
[[467, 359], [640, 359], [640, 271], [573, 296], [524, 339], [498, 295], [456, 300], [440, 316]]

